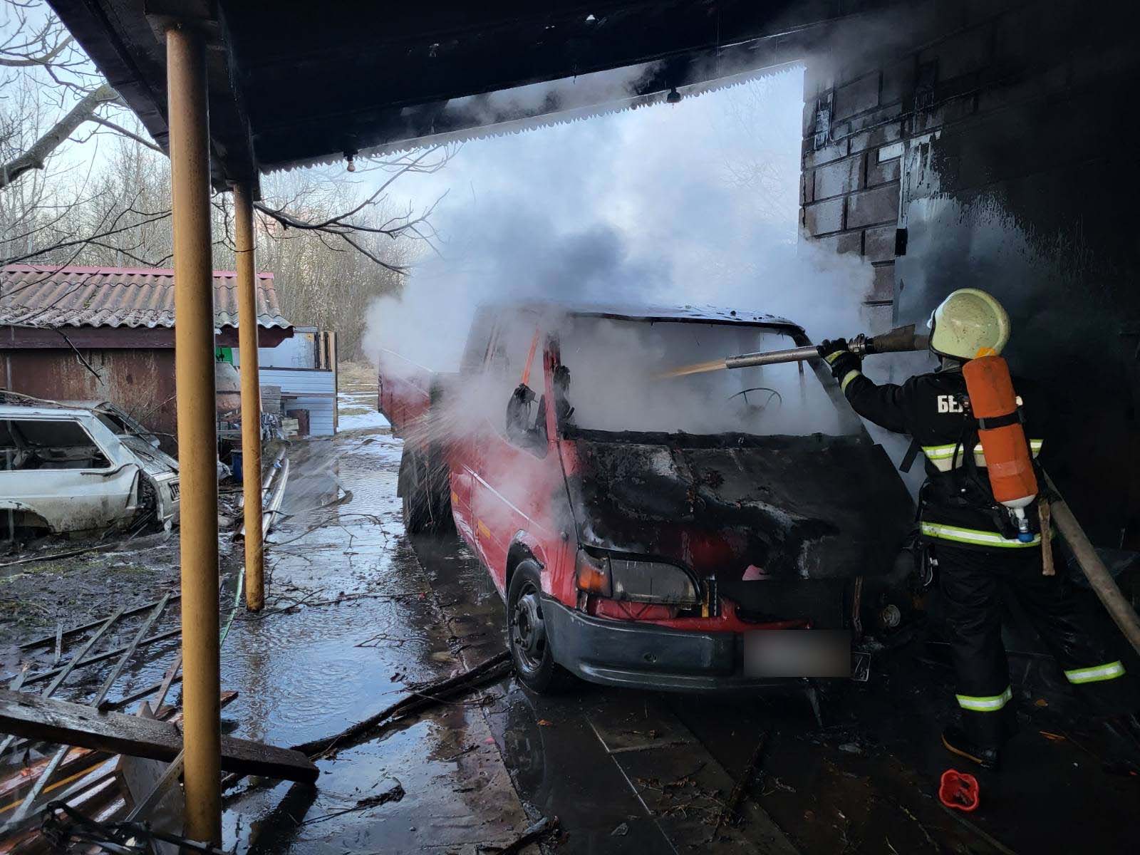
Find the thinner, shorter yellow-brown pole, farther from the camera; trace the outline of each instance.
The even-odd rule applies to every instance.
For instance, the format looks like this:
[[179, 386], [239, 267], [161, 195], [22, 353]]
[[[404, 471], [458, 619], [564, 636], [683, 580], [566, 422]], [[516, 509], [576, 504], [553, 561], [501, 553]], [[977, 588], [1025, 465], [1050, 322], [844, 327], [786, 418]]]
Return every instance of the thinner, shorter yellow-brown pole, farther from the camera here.
[[253, 238], [253, 188], [234, 185], [237, 250], [237, 349], [242, 355], [242, 489], [245, 496], [245, 605], [266, 604], [261, 543], [261, 383], [258, 380], [258, 296]]

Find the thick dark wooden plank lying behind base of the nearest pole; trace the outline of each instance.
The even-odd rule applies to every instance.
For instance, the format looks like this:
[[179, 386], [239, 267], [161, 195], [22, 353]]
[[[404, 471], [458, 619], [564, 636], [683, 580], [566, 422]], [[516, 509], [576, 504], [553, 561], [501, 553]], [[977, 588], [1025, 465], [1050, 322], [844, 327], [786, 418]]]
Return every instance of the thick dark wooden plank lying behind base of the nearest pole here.
[[[172, 724], [121, 712], [97, 712], [81, 703], [0, 689], [0, 731], [100, 751], [170, 763], [182, 750]], [[311, 783], [318, 769], [302, 754], [233, 736], [221, 738], [221, 767], [285, 781]]]

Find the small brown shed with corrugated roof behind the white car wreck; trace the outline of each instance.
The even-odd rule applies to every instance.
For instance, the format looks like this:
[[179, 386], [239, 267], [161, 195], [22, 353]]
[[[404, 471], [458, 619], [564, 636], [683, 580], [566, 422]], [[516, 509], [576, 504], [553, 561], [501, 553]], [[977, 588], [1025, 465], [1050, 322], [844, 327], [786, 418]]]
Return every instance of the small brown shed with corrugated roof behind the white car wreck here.
[[[237, 344], [237, 275], [215, 270], [214, 336]], [[293, 334], [274, 275], [258, 274], [258, 343]], [[177, 432], [174, 271], [9, 264], [0, 269], [0, 385], [51, 400], [109, 400]]]

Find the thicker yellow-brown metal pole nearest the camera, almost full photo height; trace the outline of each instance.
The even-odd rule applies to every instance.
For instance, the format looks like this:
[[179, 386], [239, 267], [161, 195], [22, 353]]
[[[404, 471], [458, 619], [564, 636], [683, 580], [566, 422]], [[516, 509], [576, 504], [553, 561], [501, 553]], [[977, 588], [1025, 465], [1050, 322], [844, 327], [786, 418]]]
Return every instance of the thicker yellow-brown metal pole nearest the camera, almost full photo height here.
[[166, 31], [174, 227], [174, 382], [181, 480], [182, 739], [186, 834], [221, 842], [218, 434], [205, 42]]

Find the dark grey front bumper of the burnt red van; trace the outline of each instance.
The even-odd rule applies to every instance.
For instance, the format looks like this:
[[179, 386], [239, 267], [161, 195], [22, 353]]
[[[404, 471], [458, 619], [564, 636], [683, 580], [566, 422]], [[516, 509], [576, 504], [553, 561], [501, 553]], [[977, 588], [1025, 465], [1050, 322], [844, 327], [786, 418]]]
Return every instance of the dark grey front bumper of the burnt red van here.
[[743, 674], [739, 633], [701, 633], [592, 618], [543, 597], [554, 661], [591, 683], [676, 692], [742, 691], [801, 684]]

